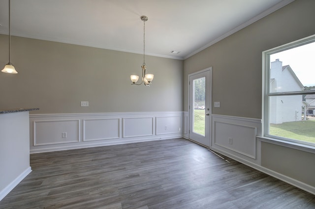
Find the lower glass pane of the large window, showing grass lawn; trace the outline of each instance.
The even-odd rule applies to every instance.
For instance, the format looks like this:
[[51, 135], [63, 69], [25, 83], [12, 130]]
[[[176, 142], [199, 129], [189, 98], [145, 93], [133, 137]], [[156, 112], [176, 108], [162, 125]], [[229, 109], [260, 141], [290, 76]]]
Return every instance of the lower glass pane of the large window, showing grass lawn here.
[[269, 97], [269, 135], [315, 143], [315, 94]]

